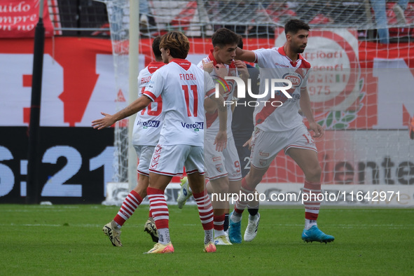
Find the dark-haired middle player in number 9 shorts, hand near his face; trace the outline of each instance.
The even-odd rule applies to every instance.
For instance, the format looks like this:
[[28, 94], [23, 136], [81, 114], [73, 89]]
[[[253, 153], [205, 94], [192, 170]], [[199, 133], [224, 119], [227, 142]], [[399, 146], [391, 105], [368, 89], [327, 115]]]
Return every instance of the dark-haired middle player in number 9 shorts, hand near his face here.
[[[218, 29], [212, 36], [213, 49], [201, 62], [198, 67], [210, 72], [210, 76], [214, 81], [218, 83], [226, 82], [226, 86], [219, 85], [220, 92], [223, 95], [224, 100], [227, 103], [233, 99], [233, 93], [235, 92], [236, 83], [233, 80], [225, 80], [226, 76], [239, 76], [243, 75], [243, 78], [247, 82], [249, 78], [249, 72], [247, 71], [247, 65], [241, 60], [235, 60], [235, 50], [237, 43], [240, 41], [240, 36], [235, 32], [226, 28]], [[238, 71], [237, 71], [238, 70]], [[231, 111], [232, 105], [227, 104], [227, 148], [223, 152], [216, 151], [214, 149], [214, 137], [218, 131], [219, 121], [217, 118], [217, 111], [214, 109], [214, 102], [211, 99], [206, 99], [206, 123], [207, 130], [205, 132], [205, 163], [207, 167], [207, 177], [209, 183], [207, 188], [209, 191], [216, 195], [221, 195], [218, 200], [214, 200], [214, 243], [217, 245], [231, 245], [226, 235], [228, 228], [228, 209], [229, 202], [219, 201], [226, 198], [224, 195], [228, 193], [239, 193], [242, 174], [240, 168], [240, 160], [237, 155], [237, 149], [233, 139], [233, 133], [231, 130], [231, 122], [233, 114]], [[211, 106], [212, 108], [209, 108]], [[211, 110], [211, 112], [209, 112]], [[182, 186], [180, 195], [178, 198], [179, 207], [184, 205], [182, 202], [191, 195], [191, 191], [186, 186]], [[187, 197], [182, 197], [184, 193], [187, 193]], [[256, 208], [257, 209], [257, 208]], [[249, 209], [250, 210], [250, 209]], [[249, 212], [254, 212], [252, 209]], [[227, 223], [226, 223], [227, 222]], [[227, 226], [227, 227], [226, 227]], [[256, 228], [256, 227], [255, 227]], [[241, 242], [241, 241], [240, 241]]]

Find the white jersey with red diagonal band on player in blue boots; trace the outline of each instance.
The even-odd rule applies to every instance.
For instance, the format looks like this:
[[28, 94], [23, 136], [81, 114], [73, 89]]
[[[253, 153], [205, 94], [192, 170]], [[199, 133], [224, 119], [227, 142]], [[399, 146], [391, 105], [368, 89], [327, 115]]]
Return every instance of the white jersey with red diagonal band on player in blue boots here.
[[[300, 109], [301, 89], [308, 83], [310, 63], [298, 55], [298, 60], [292, 62], [283, 47], [254, 50], [256, 63], [260, 67], [260, 94], [265, 93], [268, 85], [267, 96], [258, 99], [258, 106], [254, 109], [254, 123], [261, 130], [275, 132], [291, 130], [303, 123]], [[289, 79], [292, 87], [287, 90], [292, 98], [288, 98], [282, 92], [275, 92], [275, 98], [271, 98], [271, 79]], [[286, 83], [276, 83], [277, 86], [287, 86]], [[275, 102], [282, 102], [282, 106]], [[272, 103], [273, 102], [273, 103]]]

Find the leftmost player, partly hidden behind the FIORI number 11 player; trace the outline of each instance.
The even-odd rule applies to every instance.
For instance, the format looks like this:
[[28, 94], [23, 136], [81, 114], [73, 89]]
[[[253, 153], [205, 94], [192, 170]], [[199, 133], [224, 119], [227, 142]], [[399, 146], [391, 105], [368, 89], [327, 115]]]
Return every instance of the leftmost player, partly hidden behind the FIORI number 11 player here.
[[[149, 83], [154, 72], [165, 64], [163, 62], [163, 57], [161, 57], [160, 41], [161, 36], [157, 36], [152, 43], [153, 54], [156, 57], [156, 61], [150, 62], [147, 67], [139, 72], [138, 97], [142, 96], [142, 92], [144, 92], [145, 86]], [[109, 240], [111, 240], [115, 247], [122, 247], [122, 243], [120, 242], [120, 228], [125, 221], [134, 214], [135, 209], [137, 209], [142, 200], [146, 197], [146, 188], [148, 188], [149, 184], [149, 163], [151, 162], [154, 149], [158, 144], [160, 130], [163, 126], [163, 118], [161, 116], [162, 109], [163, 104], [161, 102], [161, 97], [158, 97], [156, 102], [152, 102], [145, 109], [142, 109], [141, 113], [138, 113], [135, 118], [134, 129], [132, 131], [132, 144], [135, 151], [137, 151], [139, 159], [137, 167], [139, 173], [138, 184], [127, 195], [118, 214], [116, 214], [111, 222], [107, 223], [104, 228], [102, 228], [105, 235], [109, 237]], [[144, 231], [151, 235], [153, 242], [158, 242], [157, 228], [151, 216], [151, 212], [149, 214], [149, 219], [145, 223]]]

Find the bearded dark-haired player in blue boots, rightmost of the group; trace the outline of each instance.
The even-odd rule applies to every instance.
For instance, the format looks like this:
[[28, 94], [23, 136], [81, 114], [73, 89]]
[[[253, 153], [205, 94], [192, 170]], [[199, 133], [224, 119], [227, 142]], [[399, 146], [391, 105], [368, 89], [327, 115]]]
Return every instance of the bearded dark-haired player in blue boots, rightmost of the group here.
[[[317, 149], [313, 137], [322, 137], [324, 129], [315, 122], [310, 107], [310, 97], [306, 89], [310, 63], [301, 53], [308, 43], [309, 25], [301, 20], [289, 20], [284, 26], [287, 42], [284, 46], [271, 49], [242, 50], [237, 48], [236, 57], [247, 62], [256, 62], [261, 67], [261, 93], [265, 92], [265, 81], [271, 78], [295, 79], [287, 90], [291, 98], [282, 92], [272, 99], [261, 99], [261, 105], [254, 110], [255, 130], [251, 140], [251, 168], [242, 179], [242, 193], [253, 193], [273, 159], [280, 150], [301, 167], [305, 174], [303, 193], [315, 195], [321, 193], [321, 167], [317, 158]], [[286, 86], [286, 85], [284, 85]], [[266, 105], [265, 101], [268, 101]], [[282, 105], [277, 104], [282, 102]], [[272, 104], [273, 103], [273, 104]], [[313, 137], [303, 123], [298, 113], [301, 108], [309, 122]], [[317, 217], [320, 202], [315, 198], [306, 200], [305, 228], [302, 240], [306, 242], [332, 242], [334, 237], [326, 235], [317, 228]], [[235, 209], [230, 214], [230, 241], [241, 239], [241, 219], [247, 201], [241, 197], [235, 203]]]

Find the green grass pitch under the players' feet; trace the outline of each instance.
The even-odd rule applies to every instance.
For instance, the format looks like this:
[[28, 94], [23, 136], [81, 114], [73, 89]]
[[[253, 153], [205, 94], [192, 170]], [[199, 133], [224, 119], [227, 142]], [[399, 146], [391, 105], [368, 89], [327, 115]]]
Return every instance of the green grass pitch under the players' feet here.
[[[195, 206], [170, 206], [174, 254], [146, 255], [148, 206], [113, 247], [102, 226], [118, 207], [0, 205], [0, 275], [414, 275], [413, 209], [328, 209], [318, 226], [330, 244], [301, 240], [303, 209], [261, 209], [252, 242], [205, 254]], [[247, 212], [242, 233], [247, 225]]]

